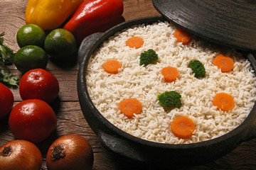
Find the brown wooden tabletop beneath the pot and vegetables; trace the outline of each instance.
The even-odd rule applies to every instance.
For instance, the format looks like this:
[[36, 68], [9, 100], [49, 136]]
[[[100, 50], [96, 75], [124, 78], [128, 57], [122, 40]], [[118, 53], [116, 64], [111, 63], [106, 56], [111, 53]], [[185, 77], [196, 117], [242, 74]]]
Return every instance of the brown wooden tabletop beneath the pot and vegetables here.
[[[0, 32], [5, 32], [6, 45], [16, 52], [19, 47], [16, 42], [16, 32], [25, 24], [24, 16], [27, 0], [0, 0]], [[150, 0], [124, 0], [124, 18], [126, 21], [144, 16], [160, 15]], [[57, 77], [60, 83], [60, 95], [58, 101], [53, 104], [53, 109], [58, 118], [58, 127], [50, 137], [37, 146], [43, 155], [42, 169], [46, 169], [46, 153], [50, 144], [61, 135], [78, 134], [85, 137], [94, 152], [95, 162], [93, 169], [97, 170], [126, 170], [126, 169], [160, 169], [159, 166], [139, 164], [128, 159], [122, 159], [118, 155], [108, 152], [100, 144], [94, 132], [87, 125], [82, 115], [78, 101], [76, 81], [78, 64], [63, 66], [49, 61], [46, 69]], [[11, 67], [13, 74], [21, 77], [16, 67]], [[15, 103], [21, 101], [18, 89], [11, 89], [14, 93]], [[15, 140], [8, 127], [8, 119], [0, 120], [0, 145]], [[210, 153], [209, 153], [210, 154]], [[171, 164], [169, 169], [171, 169]], [[256, 169], [256, 138], [242, 142], [233, 152], [208, 164], [189, 167], [187, 169]]]

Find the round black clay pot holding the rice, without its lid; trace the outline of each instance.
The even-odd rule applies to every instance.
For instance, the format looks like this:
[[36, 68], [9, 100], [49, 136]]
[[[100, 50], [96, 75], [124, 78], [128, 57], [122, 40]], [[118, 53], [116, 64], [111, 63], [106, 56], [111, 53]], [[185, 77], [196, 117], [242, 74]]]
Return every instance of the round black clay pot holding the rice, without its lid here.
[[[102, 145], [114, 153], [139, 162], [154, 162], [159, 164], [164, 162], [168, 162], [169, 164], [183, 164], [182, 162], [187, 162], [188, 164], [202, 164], [217, 159], [232, 151], [241, 142], [256, 137], [256, 106], [252, 108], [252, 111], [245, 121], [239, 125], [238, 128], [235, 128], [235, 130], [213, 140], [182, 145], [161, 144], [134, 137], [112, 125], [112, 123], [97, 111], [97, 108], [93, 105], [88, 94], [85, 79], [87, 62], [90, 56], [102, 42], [110, 38], [114, 33], [137, 24], [150, 24], [156, 21], [166, 20], [161, 16], [154, 16], [127, 21], [105, 33], [90, 35], [85, 38], [80, 45], [78, 54], [80, 60], [78, 72], [78, 96], [80, 106], [87, 123], [100, 138]], [[250, 61], [252, 68], [255, 70], [256, 61], [253, 55], [246, 54], [245, 57]]]

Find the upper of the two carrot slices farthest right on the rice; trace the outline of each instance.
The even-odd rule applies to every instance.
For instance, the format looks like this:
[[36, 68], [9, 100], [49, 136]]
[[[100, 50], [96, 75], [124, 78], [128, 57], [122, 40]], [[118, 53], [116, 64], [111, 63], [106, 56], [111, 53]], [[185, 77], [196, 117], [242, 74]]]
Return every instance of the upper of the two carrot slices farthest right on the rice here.
[[234, 68], [234, 62], [230, 57], [218, 55], [215, 57], [213, 64], [221, 69], [221, 72], [230, 72]]

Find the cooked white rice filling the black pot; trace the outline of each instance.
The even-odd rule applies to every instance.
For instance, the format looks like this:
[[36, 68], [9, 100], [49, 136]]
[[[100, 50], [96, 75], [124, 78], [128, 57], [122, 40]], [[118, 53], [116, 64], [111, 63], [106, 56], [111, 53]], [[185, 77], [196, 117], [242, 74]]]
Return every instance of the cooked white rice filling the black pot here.
[[[168, 22], [139, 25], [122, 30], [105, 41], [87, 66], [87, 89], [92, 102], [110, 123], [144, 140], [184, 144], [210, 140], [230, 132], [245, 120], [255, 103], [255, 74], [250, 62], [235, 50], [220, 50], [196, 38], [188, 45], [182, 45], [173, 36], [175, 30]], [[127, 39], [133, 36], [144, 40], [139, 49], [126, 46]], [[158, 62], [140, 66], [140, 54], [149, 49], [159, 55]], [[220, 53], [233, 58], [232, 72], [222, 73], [213, 65], [214, 57]], [[107, 60], [122, 63], [118, 74], [104, 71], [102, 65]], [[191, 60], [203, 63], [205, 78], [194, 77], [188, 68]], [[164, 81], [161, 69], [167, 66], [178, 69], [176, 81]], [[165, 111], [157, 100], [157, 94], [164, 91], [181, 94], [181, 108]], [[231, 111], [219, 111], [213, 106], [213, 96], [220, 92], [233, 96], [235, 107]], [[119, 103], [126, 98], [141, 101], [142, 113], [134, 118], [120, 113]], [[176, 137], [171, 132], [171, 122], [181, 115], [188, 116], [196, 125], [188, 139]]]

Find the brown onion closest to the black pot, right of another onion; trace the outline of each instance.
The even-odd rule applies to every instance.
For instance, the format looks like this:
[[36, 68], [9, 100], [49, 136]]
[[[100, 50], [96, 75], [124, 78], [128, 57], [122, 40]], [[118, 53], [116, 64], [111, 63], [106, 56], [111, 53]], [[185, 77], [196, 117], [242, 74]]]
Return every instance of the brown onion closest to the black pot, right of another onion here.
[[50, 145], [46, 155], [48, 170], [90, 170], [94, 157], [92, 147], [80, 135], [64, 135]]

